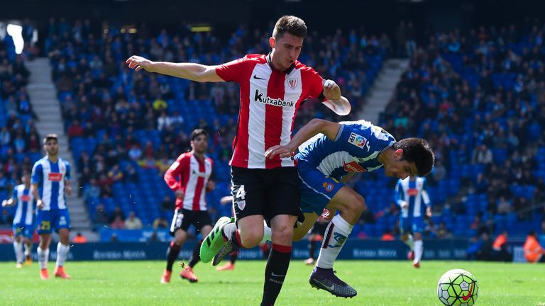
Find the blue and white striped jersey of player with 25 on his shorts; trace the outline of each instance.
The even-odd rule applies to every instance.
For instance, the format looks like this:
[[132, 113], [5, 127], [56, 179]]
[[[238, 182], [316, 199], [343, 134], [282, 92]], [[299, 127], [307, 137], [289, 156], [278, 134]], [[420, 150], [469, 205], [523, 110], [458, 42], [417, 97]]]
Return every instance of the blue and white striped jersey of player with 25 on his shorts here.
[[48, 157], [35, 162], [31, 183], [38, 184], [42, 210], [66, 209], [65, 181], [70, 180], [70, 164], [64, 159], [51, 162]]

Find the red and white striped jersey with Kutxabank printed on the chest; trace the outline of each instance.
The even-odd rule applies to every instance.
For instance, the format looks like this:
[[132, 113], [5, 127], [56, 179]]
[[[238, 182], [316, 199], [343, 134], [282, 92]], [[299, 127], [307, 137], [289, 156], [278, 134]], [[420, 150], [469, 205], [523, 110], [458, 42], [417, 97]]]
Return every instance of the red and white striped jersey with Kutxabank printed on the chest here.
[[324, 101], [320, 75], [298, 61], [280, 72], [272, 67], [270, 55], [246, 55], [219, 65], [216, 74], [224, 81], [236, 81], [241, 87], [231, 166], [250, 169], [294, 166], [291, 158], [265, 160], [265, 151], [290, 142], [302, 101], [307, 98]]

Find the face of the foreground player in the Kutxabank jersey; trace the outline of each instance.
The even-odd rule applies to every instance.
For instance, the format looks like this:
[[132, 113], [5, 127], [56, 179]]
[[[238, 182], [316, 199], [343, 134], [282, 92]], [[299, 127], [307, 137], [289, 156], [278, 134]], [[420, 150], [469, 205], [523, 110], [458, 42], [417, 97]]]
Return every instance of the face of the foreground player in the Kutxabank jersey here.
[[285, 70], [297, 60], [303, 47], [304, 38], [299, 38], [290, 33], [284, 33], [281, 38], [275, 40], [270, 38], [269, 43], [272, 47], [272, 64], [276, 68]]

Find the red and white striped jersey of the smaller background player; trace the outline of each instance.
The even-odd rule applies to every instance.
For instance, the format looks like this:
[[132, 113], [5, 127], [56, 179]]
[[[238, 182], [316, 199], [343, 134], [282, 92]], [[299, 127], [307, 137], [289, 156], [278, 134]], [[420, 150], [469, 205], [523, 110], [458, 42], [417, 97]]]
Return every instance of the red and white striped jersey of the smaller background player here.
[[177, 209], [207, 210], [206, 188], [214, 162], [209, 157], [197, 159], [192, 152], [181, 154], [165, 172], [165, 182], [172, 189], [181, 189], [184, 198], [176, 198]]

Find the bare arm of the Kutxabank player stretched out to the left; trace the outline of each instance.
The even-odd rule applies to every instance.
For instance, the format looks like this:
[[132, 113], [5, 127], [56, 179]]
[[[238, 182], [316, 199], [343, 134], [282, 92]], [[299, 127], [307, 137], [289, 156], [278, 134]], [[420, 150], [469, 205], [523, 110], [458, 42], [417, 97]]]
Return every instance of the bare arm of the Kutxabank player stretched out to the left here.
[[207, 66], [194, 63], [153, 62], [145, 57], [133, 55], [126, 60], [128, 67], [140, 71], [157, 72], [172, 77], [189, 79], [191, 81], [224, 81], [216, 74], [216, 66]]

